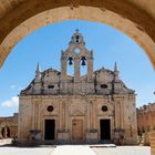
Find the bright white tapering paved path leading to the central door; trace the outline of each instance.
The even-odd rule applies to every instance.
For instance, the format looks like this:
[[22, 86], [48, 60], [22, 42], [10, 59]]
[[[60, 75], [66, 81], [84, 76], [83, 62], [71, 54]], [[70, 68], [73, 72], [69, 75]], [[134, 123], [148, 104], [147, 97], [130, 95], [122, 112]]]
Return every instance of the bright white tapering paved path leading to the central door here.
[[96, 155], [89, 146], [58, 146], [51, 155]]

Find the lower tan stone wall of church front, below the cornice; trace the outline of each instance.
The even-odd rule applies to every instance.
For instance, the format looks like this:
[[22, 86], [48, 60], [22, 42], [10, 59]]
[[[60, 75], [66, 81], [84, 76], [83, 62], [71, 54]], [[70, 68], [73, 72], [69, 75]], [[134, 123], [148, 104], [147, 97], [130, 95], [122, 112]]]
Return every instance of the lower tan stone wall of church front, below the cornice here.
[[[135, 114], [133, 115], [135, 105], [132, 104], [134, 99], [131, 97], [131, 101], [126, 103], [123, 97], [117, 96], [118, 99], [122, 104], [118, 107], [121, 111], [114, 113], [118, 103], [114, 103], [111, 99], [107, 101], [107, 97], [103, 95], [20, 96], [19, 141], [30, 141], [30, 131], [41, 131], [40, 141], [44, 142], [44, 121], [54, 120], [55, 142], [73, 143], [73, 124], [76, 121], [82, 121], [82, 142], [96, 143], [101, 141], [100, 120], [110, 120], [111, 141], [115, 138], [116, 128], [117, 131], [124, 128], [125, 143], [135, 144], [136, 117]], [[48, 111], [49, 106], [53, 108], [50, 112]], [[103, 106], [106, 106], [107, 111], [102, 111]], [[130, 111], [133, 113], [128, 113]], [[132, 121], [132, 131], [128, 115]], [[115, 126], [116, 122], [117, 126]]]

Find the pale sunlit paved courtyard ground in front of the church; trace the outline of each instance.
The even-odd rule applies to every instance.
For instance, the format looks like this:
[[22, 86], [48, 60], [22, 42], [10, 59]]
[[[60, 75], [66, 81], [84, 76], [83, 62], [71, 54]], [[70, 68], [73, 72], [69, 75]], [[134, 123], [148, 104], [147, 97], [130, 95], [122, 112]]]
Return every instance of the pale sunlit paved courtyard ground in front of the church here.
[[151, 155], [149, 146], [58, 145], [40, 147], [7, 146], [11, 140], [0, 140], [0, 155]]

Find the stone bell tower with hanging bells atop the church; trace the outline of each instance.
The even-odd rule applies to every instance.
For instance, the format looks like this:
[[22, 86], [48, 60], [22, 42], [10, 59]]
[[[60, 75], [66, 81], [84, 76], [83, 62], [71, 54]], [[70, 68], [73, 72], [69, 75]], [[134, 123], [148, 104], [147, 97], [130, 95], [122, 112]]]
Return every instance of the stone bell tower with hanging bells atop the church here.
[[68, 66], [73, 65], [74, 87], [81, 83], [81, 68], [86, 68], [86, 82], [93, 82], [93, 51], [85, 48], [85, 42], [79, 30], [72, 35], [69, 48], [61, 53], [61, 81], [68, 82]]

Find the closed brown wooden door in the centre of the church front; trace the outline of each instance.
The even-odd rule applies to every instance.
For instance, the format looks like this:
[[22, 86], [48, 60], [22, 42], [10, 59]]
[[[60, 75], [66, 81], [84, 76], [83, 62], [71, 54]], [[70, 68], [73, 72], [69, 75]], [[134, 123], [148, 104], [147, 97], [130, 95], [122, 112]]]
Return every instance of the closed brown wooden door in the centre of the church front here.
[[83, 141], [83, 120], [72, 121], [72, 141], [78, 143]]

